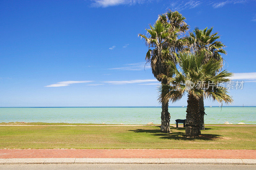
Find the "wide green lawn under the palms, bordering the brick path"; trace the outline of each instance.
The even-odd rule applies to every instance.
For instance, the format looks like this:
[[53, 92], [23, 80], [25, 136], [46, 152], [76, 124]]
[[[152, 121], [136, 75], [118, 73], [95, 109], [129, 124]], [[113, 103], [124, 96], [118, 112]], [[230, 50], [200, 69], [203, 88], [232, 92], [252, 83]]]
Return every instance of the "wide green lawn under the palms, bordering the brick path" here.
[[189, 138], [185, 128], [157, 126], [0, 126], [0, 148], [256, 149], [256, 127], [206, 126]]

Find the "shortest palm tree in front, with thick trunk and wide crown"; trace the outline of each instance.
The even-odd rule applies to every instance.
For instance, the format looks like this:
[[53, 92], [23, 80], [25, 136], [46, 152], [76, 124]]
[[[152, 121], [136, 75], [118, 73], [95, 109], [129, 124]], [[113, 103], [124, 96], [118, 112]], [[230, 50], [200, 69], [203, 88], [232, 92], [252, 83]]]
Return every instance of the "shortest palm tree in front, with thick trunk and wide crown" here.
[[[209, 59], [203, 62], [205, 53], [192, 54], [181, 53], [177, 64], [167, 62], [167, 74], [158, 77], [167, 79], [159, 91], [160, 100], [175, 102], [188, 93], [188, 106], [186, 115], [186, 135], [199, 136], [200, 131], [200, 103], [201, 98], [209, 98], [218, 102], [231, 103], [233, 99], [227, 93], [227, 88], [219, 85], [219, 82], [230, 81], [227, 77], [233, 74], [227, 70], [220, 72], [222, 67], [219, 61]], [[164, 97], [164, 98], [163, 98]]]

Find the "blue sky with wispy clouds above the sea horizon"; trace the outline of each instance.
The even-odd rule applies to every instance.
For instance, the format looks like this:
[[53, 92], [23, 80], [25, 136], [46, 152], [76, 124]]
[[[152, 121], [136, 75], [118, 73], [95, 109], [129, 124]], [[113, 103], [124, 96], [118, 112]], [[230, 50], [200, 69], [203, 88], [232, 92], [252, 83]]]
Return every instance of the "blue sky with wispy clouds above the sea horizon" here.
[[0, 107], [160, 106], [138, 33], [168, 9], [182, 13], [190, 31], [219, 32], [225, 68], [245, 82], [230, 90], [231, 106], [255, 106], [254, 0], [2, 0]]

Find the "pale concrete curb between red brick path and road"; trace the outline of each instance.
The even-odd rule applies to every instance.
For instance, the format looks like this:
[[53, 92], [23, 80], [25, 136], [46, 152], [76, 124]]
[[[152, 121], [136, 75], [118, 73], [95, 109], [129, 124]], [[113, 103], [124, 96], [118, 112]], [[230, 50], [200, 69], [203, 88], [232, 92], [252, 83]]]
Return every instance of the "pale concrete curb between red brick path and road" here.
[[12, 158], [0, 164], [244, 164], [256, 165], [256, 159], [206, 158]]

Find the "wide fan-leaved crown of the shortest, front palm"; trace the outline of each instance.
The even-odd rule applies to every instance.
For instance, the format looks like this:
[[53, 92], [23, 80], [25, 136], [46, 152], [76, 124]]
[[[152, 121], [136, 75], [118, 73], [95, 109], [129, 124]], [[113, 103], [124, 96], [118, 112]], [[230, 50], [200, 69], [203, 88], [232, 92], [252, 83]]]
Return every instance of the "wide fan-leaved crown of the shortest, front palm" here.
[[[228, 77], [233, 74], [227, 70], [219, 72], [222, 66], [215, 59], [209, 59], [207, 63], [203, 63], [205, 53], [181, 53], [177, 57], [177, 64], [172, 61], [166, 63], [167, 74], [161, 74], [159, 77], [166, 78], [167, 84], [162, 85], [159, 90], [162, 93], [164, 92], [162, 88], [167, 89], [167, 93], [164, 94], [164, 98], [160, 95], [160, 100], [175, 102], [187, 92], [196, 98], [205, 97], [226, 103], [233, 101], [227, 94], [227, 88], [220, 87], [220, 82], [230, 81]], [[188, 88], [188, 82], [192, 84], [191, 88]]]

